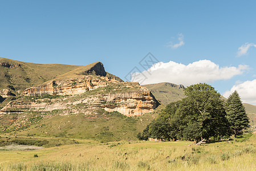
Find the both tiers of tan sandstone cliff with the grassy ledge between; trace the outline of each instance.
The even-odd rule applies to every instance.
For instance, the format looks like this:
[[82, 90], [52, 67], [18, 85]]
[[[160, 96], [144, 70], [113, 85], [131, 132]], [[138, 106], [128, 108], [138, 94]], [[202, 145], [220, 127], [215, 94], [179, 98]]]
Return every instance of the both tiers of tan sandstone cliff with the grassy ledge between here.
[[[58, 99], [34, 99], [35, 95], [60, 95]], [[152, 112], [159, 104], [152, 93], [138, 83], [119, 82], [104, 76], [87, 75], [62, 81], [52, 81], [31, 87], [23, 92], [31, 100], [11, 101], [2, 112], [51, 112], [62, 115], [90, 114], [95, 109], [117, 111], [126, 116], [140, 116]], [[68, 95], [68, 96], [64, 96]], [[40, 96], [39, 96], [40, 97]]]

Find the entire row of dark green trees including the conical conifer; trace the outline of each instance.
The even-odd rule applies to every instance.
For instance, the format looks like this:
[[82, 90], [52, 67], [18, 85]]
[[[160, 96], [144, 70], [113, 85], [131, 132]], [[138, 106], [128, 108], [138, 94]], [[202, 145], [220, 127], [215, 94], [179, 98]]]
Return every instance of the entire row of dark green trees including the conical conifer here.
[[166, 105], [137, 137], [200, 141], [238, 136], [249, 127], [249, 118], [237, 91], [224, 101], [212, 86], [200, 83], [185, 88], [185, 95], [184, 99]]

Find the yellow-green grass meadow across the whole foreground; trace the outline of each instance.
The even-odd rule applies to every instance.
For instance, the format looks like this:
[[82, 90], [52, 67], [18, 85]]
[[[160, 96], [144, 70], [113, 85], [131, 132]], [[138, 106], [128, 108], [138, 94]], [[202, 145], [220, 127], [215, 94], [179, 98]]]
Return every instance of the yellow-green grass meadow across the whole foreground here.
[[[50, 138], [49, 138], [50, 139]], [[1, 150], [0, 170], [255, 170], [256, 136], [237, 142], [116, 141]]]

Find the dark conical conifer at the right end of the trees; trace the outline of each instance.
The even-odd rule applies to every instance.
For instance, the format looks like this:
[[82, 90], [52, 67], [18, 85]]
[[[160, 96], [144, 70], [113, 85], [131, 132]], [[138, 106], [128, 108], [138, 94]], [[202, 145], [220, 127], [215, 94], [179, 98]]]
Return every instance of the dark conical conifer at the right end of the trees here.
[[235, 136], [242, 135], [250, 127], [249, 118], [237, 91], [234, 91], [227, 99], [226, 113], [234, 139]]

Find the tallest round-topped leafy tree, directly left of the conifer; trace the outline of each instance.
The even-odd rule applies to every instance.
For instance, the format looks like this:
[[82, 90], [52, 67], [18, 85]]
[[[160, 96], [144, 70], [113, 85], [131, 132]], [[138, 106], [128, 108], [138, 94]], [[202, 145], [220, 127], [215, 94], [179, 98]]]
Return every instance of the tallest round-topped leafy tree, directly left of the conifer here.
[[214, 87], [208, 84], [194, 84], [185, 89], [183, 108], [187, 116], [184, 136], [187, 139], [209, 139], [227, 134], [227, 119], [224, 101]]

